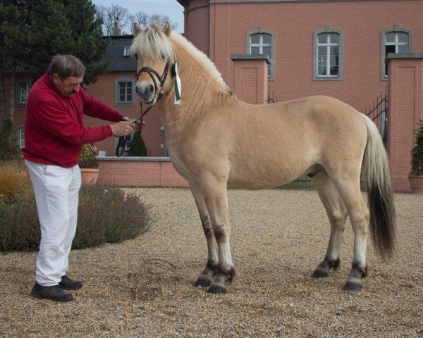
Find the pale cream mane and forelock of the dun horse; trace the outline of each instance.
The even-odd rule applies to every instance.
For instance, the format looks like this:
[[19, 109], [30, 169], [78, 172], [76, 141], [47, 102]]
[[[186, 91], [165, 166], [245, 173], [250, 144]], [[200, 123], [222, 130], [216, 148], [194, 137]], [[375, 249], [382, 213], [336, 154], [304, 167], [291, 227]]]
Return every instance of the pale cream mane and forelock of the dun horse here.
[[153, 23], [145, 30], [140, 32], [133, 39], [133, 44], [130, 46], [130, 55], [137, 54], [140, 58], [148, 58], [156, 60], [158, 58], [167, 58], [174, 61], [175, 54], [173, 46], [180, 46], [180, 49], [186, 51], [192, 59], [200, 63], [202, 68], [209, 73], [209, 76], [215, 80], [218, 86], [224, 92], [231, 92], [231, 89], [223, 81], [221, 73], [216, 66], [202, 51], [197, 49], [191, 42], [177, 32], [171, 32], [171, 36], [167, 37], [161, 25]]

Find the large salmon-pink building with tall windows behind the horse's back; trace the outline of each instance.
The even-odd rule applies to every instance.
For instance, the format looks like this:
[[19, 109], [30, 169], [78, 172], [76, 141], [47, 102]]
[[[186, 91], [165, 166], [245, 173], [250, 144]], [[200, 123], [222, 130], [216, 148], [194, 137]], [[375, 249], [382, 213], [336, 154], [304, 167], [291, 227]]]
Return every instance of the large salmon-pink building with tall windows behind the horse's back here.
[[236, 87], [233, 54], [269, 55], [274, 101], [324, 94], [364, 111], [387, 87], [386, 54], [423, 51], [423, 1], [178, 2], [185, 37], [230, 87]]

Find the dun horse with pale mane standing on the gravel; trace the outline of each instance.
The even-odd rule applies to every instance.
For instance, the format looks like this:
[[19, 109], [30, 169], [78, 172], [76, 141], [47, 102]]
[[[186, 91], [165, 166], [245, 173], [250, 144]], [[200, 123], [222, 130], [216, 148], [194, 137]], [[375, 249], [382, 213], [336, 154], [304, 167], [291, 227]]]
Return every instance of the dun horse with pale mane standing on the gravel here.
[[142, 104], [157, 104], [169, 155], [189, 182], [207, 238], [207, 265], [195, 286], [225, 293], [235, 276], [227, 189], [266, 189], [307, 174], [331, 224], [326, 256], [312, 277], [338, 268], [349, 215], [354, 256], [344, 289], [361, 290], [367, 227], [382, 257], [392, 255], [396, 242], [388, 158], [372, 120], [328, 96], [246, 104], [212, 61], [168, 23], [145, 30], [135, 24], [133, 33], [136, 92]]

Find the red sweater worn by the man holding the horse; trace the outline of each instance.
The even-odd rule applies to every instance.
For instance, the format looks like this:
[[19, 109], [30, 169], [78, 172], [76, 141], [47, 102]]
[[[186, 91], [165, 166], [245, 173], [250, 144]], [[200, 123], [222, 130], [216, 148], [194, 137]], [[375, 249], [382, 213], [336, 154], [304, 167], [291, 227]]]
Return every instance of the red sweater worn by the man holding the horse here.
[[84, 127], [83, 116], [118, 122], [123, 115], [80, 88], [72, 96], [56, 89], [46, 73], [32, 86], [25, 106], [25, 148], [29, 161], [71, 168], [78, 164], [82, 144], [112, 135], [111, 127]]

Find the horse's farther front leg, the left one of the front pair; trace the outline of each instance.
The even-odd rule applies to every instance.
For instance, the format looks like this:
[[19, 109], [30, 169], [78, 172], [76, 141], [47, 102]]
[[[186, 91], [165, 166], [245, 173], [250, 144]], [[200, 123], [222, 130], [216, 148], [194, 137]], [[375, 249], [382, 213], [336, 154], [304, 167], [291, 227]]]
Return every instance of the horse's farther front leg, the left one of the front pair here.
[[217, 264], [219, 263], [219, 258], [217, 256], [217, 243], [214, 238], [209, 212], [207, 211], [206, 202], [204, 201], [204, 196], [200, 187], [195, 184], [190, 184], [190, 189], [192, 196], [194, 196], [195, 204], [197, 204], [198, 213], [200, 213], [200, 220], [204, 230], [204, 235], [207, 239], [207, 251], [209, 253], [206, 268], [204, 268], [202, 273], [200, 273], [200, 276], [194, 285], [195, 287], [209, 287], [214, 275], [216, 274]]

